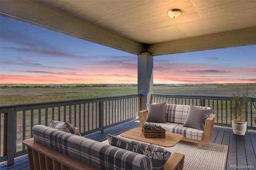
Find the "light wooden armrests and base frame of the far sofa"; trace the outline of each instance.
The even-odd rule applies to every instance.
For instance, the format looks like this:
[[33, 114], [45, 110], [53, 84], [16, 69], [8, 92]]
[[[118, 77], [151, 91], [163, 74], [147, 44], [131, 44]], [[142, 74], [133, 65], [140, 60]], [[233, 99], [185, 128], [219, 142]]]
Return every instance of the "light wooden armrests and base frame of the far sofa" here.
[[[140, 127], [142, 127], [143, 123], [146, 122], [147, 116], [148, 116], [148, 110], [139, 111]], [[185, 137], [183, 137], [181, 140], [197, 143], [198, 149], [201, 149], [202, 144], [208, 144], [210, 138], [212, 137], [214, 118], [215, 118], [215, 115], [212, 114], [210, 115], [210, 117], [206, 119], [202, 140], [196, 140], [196, 139], [185, 138]]]

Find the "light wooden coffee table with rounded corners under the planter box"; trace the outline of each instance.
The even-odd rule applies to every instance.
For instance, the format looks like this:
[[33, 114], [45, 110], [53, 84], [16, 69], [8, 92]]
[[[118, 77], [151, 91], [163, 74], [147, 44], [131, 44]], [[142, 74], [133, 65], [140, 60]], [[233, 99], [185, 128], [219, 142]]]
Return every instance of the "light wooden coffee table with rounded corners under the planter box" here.
[[183, 138], [183, 136], [180, 134], [169, 132], [165, 132], [165, 138], [145, 138], [141, 130], [141, 127], [133, 128], [121, 133], [120, 136], [164, 147], [172, 147]]

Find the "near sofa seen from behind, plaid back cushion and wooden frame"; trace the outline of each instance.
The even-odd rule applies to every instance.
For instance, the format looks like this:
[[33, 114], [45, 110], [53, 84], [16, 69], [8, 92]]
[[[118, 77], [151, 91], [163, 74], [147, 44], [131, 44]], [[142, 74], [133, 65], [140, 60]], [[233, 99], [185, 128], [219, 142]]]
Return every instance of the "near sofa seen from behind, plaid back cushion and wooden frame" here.
[[[44, 125], [23, 141], [30, 170], [152, 170], [148, 156]], [[184, 155], [173, 153], [163, 170], [182, 170]]]

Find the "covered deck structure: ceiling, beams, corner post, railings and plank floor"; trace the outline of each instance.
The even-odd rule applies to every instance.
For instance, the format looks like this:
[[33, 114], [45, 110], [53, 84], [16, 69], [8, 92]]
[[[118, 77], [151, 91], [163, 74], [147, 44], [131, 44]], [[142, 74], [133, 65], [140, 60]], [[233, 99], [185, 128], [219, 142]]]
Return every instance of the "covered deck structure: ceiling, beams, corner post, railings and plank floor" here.
[[[1, 16], [138, 55], [138, 93], [132, 97], [1, 106], [0, 120], [4, 122], [1, 137], [4, 139], [0, 161], [8, 160], [9, 165], [1, 164], [1, 170], [28, 169], [28, 160], [23, 156], [26, 154], [25, 146], [19, 148], [21, 151], [14, 147], [18, 140], [17, 117], [22, 120], [19, 140], [31, 136], [29, 130], [25, 133], [26, 128], [36, 124], [48, 125], [48, 121], [54, 119], [72, 121], [83, 136], [103, 141], [106, 140], [106, 133], [120, 134], [128, 128], [139, 126], [138, 122], [131, 119], [136, 119], [138, 111], [146, 109], [146, 103], [154, 100], [153, 56], [256, 44], [254, 0], [162, 0], [161, 3], [147, 0], [136, 3], [2, 0], [0, 3]], [[172, 8], [179, 8], [182, 15], [170, 18], [167, 11]], [[189, 105], [190, 98], [183, 96], [179, 102], [184, 101], [184, 104]], [[189, 99], [187, 103], [186, 99]], [[216, 125], [230, 127], [230, 112], [228, 109], [219, 109], [222, 104], [216, 105], [218, 101], [228, 101], [228, 97], [200, 96], [193, 99], [196, 100], [191, 101], [194, 105], [214, 107]], [[216, 103], [210, 104], [214, 100]], [[33, 113], [39, 116], [33, 117]], [[30, 114], [29, 120], [26, 120], [26, 114]], [[89, 119], [90, 114], [94, 116]], [[246, 118], [250, 125], [248, 128], [255, 129], [252, 114], [255, 114], [255, 109], [250, 107], [250, 116]], [[102, 134], [94, 133], [98, 131]], [[232, 164], [253, 164], [256, 167], [255, 141], [255, 132], [235, 136], [229, 128], [219, 127], [214, 128], [211, 138], [211, 142], [229, 146], [227, 169]], [[16, 158], [18, 156], [22, 157]], [[13, 162], [14, 157], [16, 159]]]

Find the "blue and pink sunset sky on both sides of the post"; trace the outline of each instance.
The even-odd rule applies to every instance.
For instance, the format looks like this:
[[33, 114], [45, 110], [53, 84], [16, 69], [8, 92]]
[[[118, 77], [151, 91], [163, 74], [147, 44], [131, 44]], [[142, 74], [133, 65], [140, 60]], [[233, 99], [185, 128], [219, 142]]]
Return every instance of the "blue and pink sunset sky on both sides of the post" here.
[[[0, 83], [137, 83], [137, 55], [0, 17]], [[256, 45], [154, 56], [154, 83], [256, 83]]]

